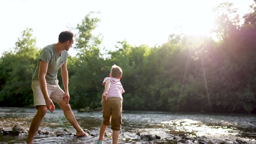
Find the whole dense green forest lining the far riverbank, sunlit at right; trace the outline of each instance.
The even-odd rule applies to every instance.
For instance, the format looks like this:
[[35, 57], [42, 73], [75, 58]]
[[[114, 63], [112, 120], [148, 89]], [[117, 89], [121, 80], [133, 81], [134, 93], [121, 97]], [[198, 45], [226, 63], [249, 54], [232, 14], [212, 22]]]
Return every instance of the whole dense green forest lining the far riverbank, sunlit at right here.
[[[101, 107], [102, 81], [116, 64], [123, 70], [124, 110], [255, 113], [256, 1], [242, 20], [231, 5], [215, 9], [215, 38], [170, 34], [161, 46], [123, 40], [111, 51], [102, 50], [103, 37], [92, 34], [100, 19], [87, 14], [74, 30], [78, 53], [67, 63], [70, 105]], [[33, 104], [31, 80], [42, 48], [32, 33], [24, 30], [0, 58], [1, 106]], [[63, 87], [60, 70], [58, 79]]]

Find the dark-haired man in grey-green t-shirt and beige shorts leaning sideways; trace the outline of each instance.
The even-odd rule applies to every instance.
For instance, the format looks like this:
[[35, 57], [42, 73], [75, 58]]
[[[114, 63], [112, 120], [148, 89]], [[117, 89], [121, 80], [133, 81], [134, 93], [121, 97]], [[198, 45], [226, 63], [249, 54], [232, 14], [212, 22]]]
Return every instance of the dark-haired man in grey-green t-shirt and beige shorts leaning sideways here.
[[[87, 136], [78, 125], [69, 105], [67, 51], [72, 47], [74, 37], [75, 36], [70, 31], [61, 32], [57, 44], [48, 45], [40, 52], [31, 85], [37, 113], [32, 119], [27, 143], [33, 143], [34, 135], [37, 132], [47, 109], [50, 112], [54, 112], [55, 106], [52, 101], [59, 104], [66, 119], [76, 129], [75, 135], [78, 137]], [[58, 85], [59, 81], [57, 79], [57, 73], [60, 67], [65, 92]]]

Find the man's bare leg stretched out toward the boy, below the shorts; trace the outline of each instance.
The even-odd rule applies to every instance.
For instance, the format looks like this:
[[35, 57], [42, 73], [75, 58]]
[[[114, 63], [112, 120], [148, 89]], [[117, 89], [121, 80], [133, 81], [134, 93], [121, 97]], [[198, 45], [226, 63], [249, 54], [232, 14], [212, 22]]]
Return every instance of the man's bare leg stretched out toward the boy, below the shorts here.
[[62, 99], [61, 102], [59, 103], [59, 106], [63, 110], [66, 119], [76, 129], [76, 135], [83, 136], [85, 134], [85, 132], [77, 123], [75, 115], [72, 112], [70, 105], [67, 104], [67, 102], [64, 99]]

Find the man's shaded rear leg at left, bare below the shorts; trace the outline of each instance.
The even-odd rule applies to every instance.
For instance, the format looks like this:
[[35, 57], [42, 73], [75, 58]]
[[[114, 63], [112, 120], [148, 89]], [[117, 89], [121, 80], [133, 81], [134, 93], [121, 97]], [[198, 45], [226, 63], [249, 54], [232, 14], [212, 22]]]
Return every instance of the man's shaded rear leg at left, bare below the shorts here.
[[30, 124], [28, 139], [27, 139], [28, 144], [33, 143], [34, 136], [35, 136], [40, 124], [42, 123], [42, 120], [46, 113], [47, 113], [46, 106], [44, 106], [44, 105], [38, 106], [37, 113], [34, 116], [34, 118], [32, 119], [32, 122]]

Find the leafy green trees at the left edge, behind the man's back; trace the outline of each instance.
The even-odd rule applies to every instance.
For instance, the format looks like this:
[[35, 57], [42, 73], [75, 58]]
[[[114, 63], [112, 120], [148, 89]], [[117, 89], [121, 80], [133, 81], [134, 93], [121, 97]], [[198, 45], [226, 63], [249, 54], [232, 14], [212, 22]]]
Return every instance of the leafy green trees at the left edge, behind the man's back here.
[[33, 103], [31, 79], [39, 52], [32, 32], [31, 28], [24, 30], [14, 50], [5, 52], [1, 57], [1, 80], [4, 84], [1, 86], [0, 101], [4, 101], [6, 106]]

